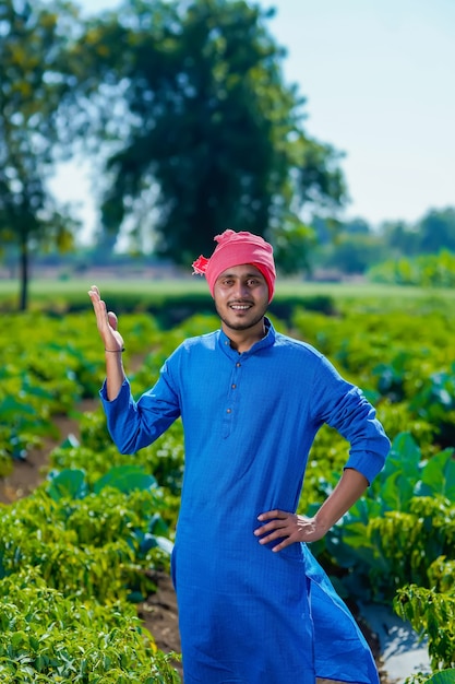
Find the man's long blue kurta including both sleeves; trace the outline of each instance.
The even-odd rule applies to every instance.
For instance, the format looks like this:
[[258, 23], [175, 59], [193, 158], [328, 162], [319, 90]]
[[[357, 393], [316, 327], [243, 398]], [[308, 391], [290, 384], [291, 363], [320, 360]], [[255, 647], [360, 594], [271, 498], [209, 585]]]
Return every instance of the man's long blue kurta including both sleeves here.
[[275, 332], [239, 354], [218, 330], [183, 342], [137, 403], [101, 398], [124, 453], [181, 415], [185, 468], [172, 555], [184, 684], [379, 682], [370, 649], [306, 544], [273, 553], [261, 512], [296, 511], [323, 423], [369, 482], [388, 439], [374, 409], [312, 346]]

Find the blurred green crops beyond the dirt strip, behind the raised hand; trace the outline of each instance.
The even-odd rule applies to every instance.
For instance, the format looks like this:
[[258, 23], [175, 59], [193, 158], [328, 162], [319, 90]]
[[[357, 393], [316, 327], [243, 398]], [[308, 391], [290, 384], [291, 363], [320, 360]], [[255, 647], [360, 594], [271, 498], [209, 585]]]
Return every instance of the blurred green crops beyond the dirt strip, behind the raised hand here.
[[[4, 315], [2, 322], [0, 468], [7, 474], [11, 458], [25, 459], [45, 437], [58, 439], [52, 416], [71, 414], [80, 400], [95, 397], [105, 368], [98, 339], [93, 343], [92, 312]], [[127, 317], [123, 329], [130, 340], [127, 358], [159, 343], [161, 333], [151, 316]]]

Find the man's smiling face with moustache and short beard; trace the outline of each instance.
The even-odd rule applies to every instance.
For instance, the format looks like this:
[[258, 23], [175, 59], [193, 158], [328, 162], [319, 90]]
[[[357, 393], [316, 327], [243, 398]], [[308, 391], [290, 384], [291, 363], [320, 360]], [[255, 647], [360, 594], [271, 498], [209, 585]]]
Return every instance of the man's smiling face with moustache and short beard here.
[[214, 299], [226, 334], [229, 330], [262, 331], [268, 287], [261, 271], [251, 263], [223, 271], [215, 282]]

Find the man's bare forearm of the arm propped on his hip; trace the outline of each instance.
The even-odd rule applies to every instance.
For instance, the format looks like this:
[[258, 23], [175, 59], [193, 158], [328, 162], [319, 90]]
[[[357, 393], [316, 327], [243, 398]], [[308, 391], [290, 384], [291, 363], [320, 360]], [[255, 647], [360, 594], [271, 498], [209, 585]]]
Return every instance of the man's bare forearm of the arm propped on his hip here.
[[349, 508], [362, 496], [368, 487], [368, 480], [358, 470], [348, 468], [338, 484], [325, 499], [314, 516], [314, 521], [324, 533], [328, 531]]

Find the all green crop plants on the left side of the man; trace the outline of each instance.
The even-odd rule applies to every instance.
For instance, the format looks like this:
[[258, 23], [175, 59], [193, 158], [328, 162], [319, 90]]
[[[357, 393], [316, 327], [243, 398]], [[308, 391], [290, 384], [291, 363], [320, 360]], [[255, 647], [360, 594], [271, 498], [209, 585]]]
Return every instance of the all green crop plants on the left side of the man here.
[[[5, 448], [12, 448], [13, 429], [19, 444], [28, 447], [32, 437], [36, 444], [40, 432], [49, 435], [53, 413], [71, 413], [81, 397], [98, 391], [103, 354], [93, 345], [93, 325], [92, 314], [5, 320], [0, 333]], [[131, 353], [159, 339], [151, 317], [136, 315], [123, 325], [131, 335]], [[3, 507], [0, 589], [14, 597], [10, 585], [20, 586], [17, 573], [25, 568], [28, 576], [40, 578], [49, 605], [41, 600], [43, 609], [34, 610], [27, 594], [29, 614], [19, 599], [14, 616], [9, 616], [10, 605], [1, 606], [10, 626], [3, 624], [0, 639], [0, 679], [11, 684], [177, 682], [169, 658], [141, 630], [133, 618], [135, 609], [125, 602], [143, 600], [155, 590], [154, 570], [169, 571], [173, 534], [169, 526], [176, 515], [169, 514], [168, 499], [149, 472], [131, 458], [116, 462], [118, 452], [100, 411], [80, 420], [84, 446], [68, 439], [56, 449], [48, 482], [26, 499]], [[58, 616], [52, 597], [61, 605]], [[105, 624], [97, 618], [101, 603], [118, 605], [111, 626], [108, 608], [103, 609]]]

